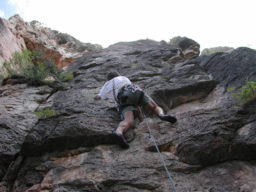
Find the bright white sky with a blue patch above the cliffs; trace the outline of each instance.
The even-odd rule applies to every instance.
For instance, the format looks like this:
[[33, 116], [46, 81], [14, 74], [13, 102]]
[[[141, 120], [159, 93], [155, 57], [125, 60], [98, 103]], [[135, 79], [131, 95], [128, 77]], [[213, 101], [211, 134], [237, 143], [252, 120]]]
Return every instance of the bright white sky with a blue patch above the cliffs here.
[[204, 48], [256, 49], [256, 0], [0, 0], [0, 17], [67, 33], [107, 48], [118, 42], [188, 37]]

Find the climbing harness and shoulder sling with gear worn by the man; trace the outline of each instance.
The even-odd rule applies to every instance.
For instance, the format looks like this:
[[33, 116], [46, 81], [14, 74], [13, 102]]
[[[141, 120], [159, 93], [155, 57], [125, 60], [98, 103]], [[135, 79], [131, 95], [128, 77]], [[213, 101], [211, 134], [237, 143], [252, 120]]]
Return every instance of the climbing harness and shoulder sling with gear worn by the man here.
[[135, 104], [132, 104], [132, 103], [122, 105], [122, 103], [125, 103], [127, 101], [127, 99], [129, 98], [127, 95], [124, 94], [124, 91], [126, 91], [128, 89], [132, 89], [132, 92], [135, 92], [137, 90], [140, 92], [140, 97], [139, 97], [138, 103], [136, 103], [138, 106], [140, 106], [140, 102], [143, 99], [145, 92], [142, 91], [142, 89], [140, 89], [140, 87], [137, 87], [135, 84], [126, 85], [117, 94], [117, 98], [116, 98], [115, 77], [113, 78], [113, 94], [114, 94], [114, 98], [116, 100], [116, 109], [117, 109], [117, 113], [120, 114], [120, 118], [122, 121], [124, 120], [124, 117], [122, 115], [123, 108], [128, 107], [128, 106], [135, 107]]

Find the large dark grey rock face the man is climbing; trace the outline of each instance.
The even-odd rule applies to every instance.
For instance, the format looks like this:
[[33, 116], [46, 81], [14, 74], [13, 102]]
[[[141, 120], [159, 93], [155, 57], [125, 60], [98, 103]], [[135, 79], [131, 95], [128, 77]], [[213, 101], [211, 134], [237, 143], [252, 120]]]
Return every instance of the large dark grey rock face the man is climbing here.
[[[35, 89], [39, 88], [26, 84], [2, 87], [0, 101], [6, 107], [0, 118], [6, 123], [0, 123], [4, 130], [0, 191], [173, 191], [152, 140], [145, 138], [145, 121], [135, 119], [124, 134], [129, 149], [114, 143], [111, 131], [120, 122], [114, 102], [93, 99], [110, 70], [128, 77], [167, 114], [177, 117], [177, 123], [170, 124], [145, 110], [177, 191], [253, 191], [256, 101], [236, 105], [226, 90], [236, 86], [239, 91], [247, 80], [256, 81], [256, 51], [238, 48], [229, 54], [170, 62], [191, 48], [189, 44], [197, 44], [185, 46], [183, 41], [191, 42], [183, 38], [178, 46], [147, 39], [87, 52], [64, 68], [75, 76], [67, 90], [47, 93], [40, 105], [35, 103]], [[19, 87], [23, 87], [22, 94], [34, 98], [28, 99], [32, 107], [24, 103], [30, 108], [20, 111], [21, 104], [13, 108], [12, 103], [5, 104], [11, 100], [9, 92], [16, 96], [10, 90], [21, 90]], [[36, 121], [32, 111], [44, 108], [59, 116]], [[31, 121], [22, 128], [25, 120], [7, 118], [9, 113]], [[13, 136], [8, 138], [7, 132]]]

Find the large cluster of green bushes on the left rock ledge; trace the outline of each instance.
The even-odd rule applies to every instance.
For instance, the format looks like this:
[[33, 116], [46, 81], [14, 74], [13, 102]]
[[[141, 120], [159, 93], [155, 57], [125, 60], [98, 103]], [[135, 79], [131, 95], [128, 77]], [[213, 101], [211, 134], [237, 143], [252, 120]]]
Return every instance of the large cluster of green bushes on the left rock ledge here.
[[[74, 79], [73, 73], [58, 69], [52, 62], [53, 57], [43, 57], [44, 50], [14, 52], [12, 58], [5, 61], [0, 71], [2, 84], [9, 78], [22, 78], [29, 85], [44, 85], [49, 81], [67, 82]], [[35, 63], [35, 64], [34, 64]]]

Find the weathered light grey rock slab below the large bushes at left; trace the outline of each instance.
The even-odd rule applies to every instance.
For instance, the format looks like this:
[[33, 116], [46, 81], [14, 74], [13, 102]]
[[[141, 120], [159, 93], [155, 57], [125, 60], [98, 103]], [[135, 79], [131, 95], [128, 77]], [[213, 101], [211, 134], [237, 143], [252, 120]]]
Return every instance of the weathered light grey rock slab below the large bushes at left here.
[[[41, 87], [45, 88], [46, 87]], [[48, 88], [49, 89], [49, 88]], [[9, 164], [15, 161], [27, 134], [37, 122], [33, 114], [42, 95], [40, 88], [28, 87], [27, 84], [1, 86], [0, 99], [0, 162], [2, 179]], [[44, 95], [46, 97], [46, 95]]]

